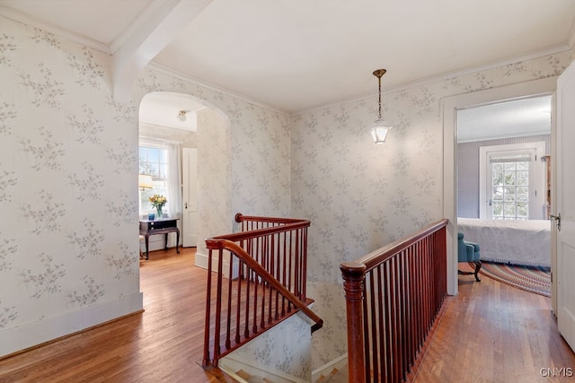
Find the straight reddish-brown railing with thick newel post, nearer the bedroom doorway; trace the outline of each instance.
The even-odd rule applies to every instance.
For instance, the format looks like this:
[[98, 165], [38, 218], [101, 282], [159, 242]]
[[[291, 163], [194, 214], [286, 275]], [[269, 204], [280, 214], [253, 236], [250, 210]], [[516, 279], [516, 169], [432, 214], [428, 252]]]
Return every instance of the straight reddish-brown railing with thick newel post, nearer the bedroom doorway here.
[[447, 220], [341, 264], [349, 382], [401, 382], [447, 296]]

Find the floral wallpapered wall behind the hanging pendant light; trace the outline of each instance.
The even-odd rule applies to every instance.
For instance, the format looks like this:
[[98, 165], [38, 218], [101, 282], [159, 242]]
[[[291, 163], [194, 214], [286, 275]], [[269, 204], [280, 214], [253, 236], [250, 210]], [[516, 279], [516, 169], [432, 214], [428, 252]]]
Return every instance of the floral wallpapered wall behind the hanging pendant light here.
[[314, 333], [314, 369], [346, 353], [341, 262], [443, 218], [440, 101], [556, 76], [570, 62], [567, 51], [384, 92], [382, 114], [394, 128], [383, 145], [368, 133], [376, 95], [291, 118], [291, 215], [312, 222], [307, 293], [324, 320]]

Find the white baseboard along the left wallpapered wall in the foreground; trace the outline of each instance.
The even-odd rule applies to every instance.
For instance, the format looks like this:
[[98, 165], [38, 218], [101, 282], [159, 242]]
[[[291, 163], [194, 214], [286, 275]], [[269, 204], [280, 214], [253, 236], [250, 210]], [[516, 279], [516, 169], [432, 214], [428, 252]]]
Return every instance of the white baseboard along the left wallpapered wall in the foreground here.
[[32, 346], [141, 311], [144, 308], [143, 305], [142, 292], [137, 292], [127, 297], [120, 297], [118, 300], [4, 329], [0, 331], [0, 356], [17, 353]]

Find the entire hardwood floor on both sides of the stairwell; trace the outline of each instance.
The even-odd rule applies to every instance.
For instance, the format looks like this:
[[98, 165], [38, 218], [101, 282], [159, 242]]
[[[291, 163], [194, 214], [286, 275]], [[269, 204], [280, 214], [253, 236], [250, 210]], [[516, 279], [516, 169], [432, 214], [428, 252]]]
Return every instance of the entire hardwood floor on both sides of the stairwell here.
[[[150, 253], [140, 263], [145, 312], [4, 358], [0, 382], [234, 381], [197, 363], [206, 271], [193, 266], [194, 255], [193, 248]], [[575, 373], [575, 354], [557, 332], [550, 299], [487, 277], [473, 283], [473, 275], [460, 276], [459, 288], [448, 298], [415, 382], [575, 381], [540, 373]]]

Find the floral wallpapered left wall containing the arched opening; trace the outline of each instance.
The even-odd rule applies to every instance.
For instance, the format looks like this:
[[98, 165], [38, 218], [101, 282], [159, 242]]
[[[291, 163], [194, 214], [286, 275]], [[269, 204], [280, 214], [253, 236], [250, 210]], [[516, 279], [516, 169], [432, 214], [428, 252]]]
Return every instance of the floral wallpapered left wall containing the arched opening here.
[[110, 56], [0, 16], [0, 356], [142, 308], [138, 108], [150, 91], [208, 106], [200, 238], [233, 231], [236, 212], [289, 214], [287, 115], [154, 68], [115, 100], [110, 72]]

